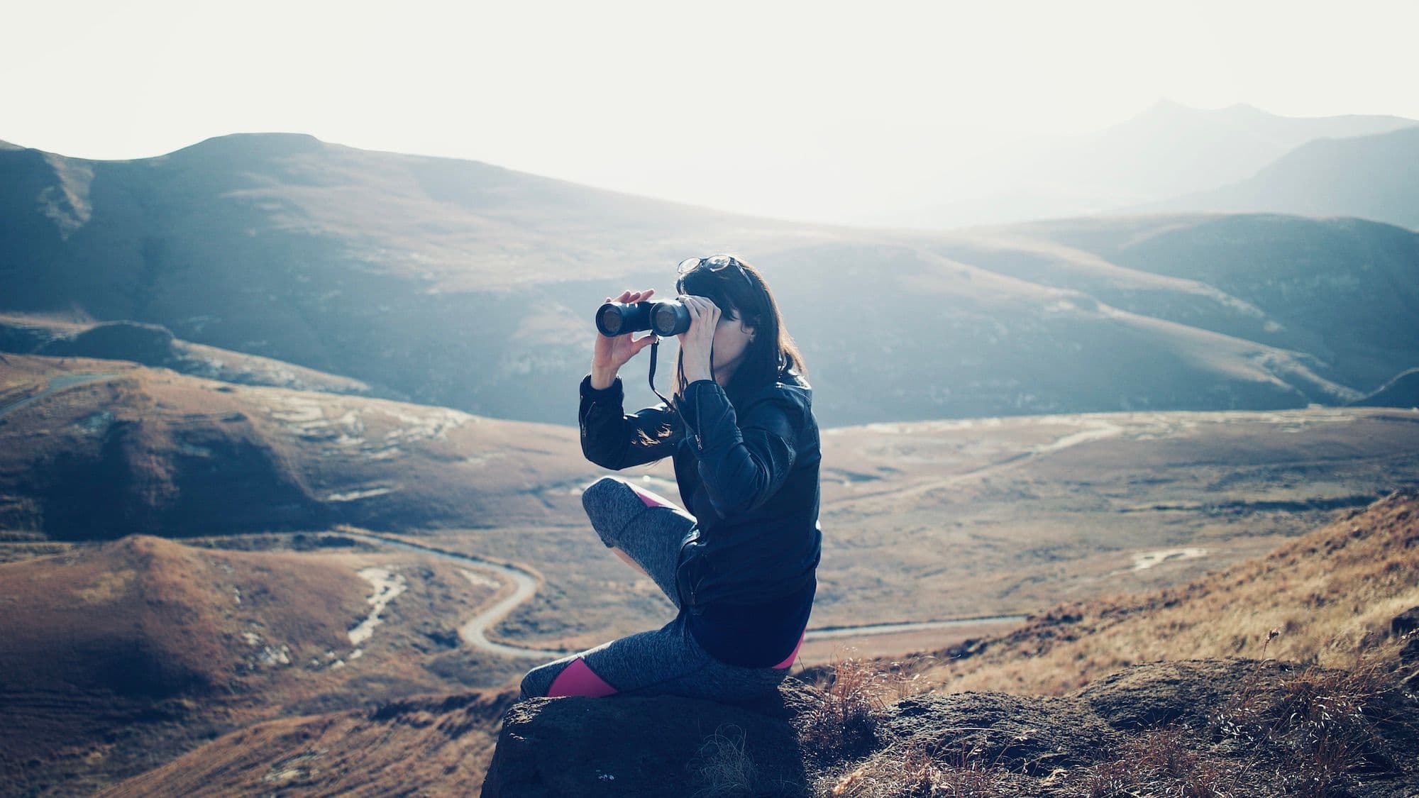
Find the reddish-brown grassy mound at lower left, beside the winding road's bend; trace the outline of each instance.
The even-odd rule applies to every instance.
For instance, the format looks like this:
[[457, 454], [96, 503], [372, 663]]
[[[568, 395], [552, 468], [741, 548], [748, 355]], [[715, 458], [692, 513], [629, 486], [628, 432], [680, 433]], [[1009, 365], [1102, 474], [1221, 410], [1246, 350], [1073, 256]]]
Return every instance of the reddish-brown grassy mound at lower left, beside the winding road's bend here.
[[[368, 567], [406, 591], [356, 643]], [[458, 689], [458, 623], [494, 594], [413, 554], [142, 535], [0, 565], [0, 781], [85, 794], [234, 727]]]

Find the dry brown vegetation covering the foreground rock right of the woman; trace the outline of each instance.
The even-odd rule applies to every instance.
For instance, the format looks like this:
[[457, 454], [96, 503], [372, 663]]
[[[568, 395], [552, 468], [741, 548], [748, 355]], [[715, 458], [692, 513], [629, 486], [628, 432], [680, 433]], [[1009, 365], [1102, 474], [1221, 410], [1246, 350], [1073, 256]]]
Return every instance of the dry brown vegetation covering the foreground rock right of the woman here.
[[[1036, 699], [1012, 723], [986, 717], [993, 711], [948, 711], [941, 717], [981, 717], [976, 723], [985, 726], [937, 726], [928, 734], [934, 741], [902, 736], [907, 728], [921, 733], [929, 704], [902, 710], [874, 690], [900, 676], [844, 662], [822, 704], [797, 718], [800, 747], [816, 774], [813, 792], [834, 798], [1409, 795], [1406, 789], [1419, 788], [1419, 703], [1415, 684], [1405, 680], [1415, 679], [1419, 665], [1401, 665], [1398, 643], [1347, 669], [1250, 660], [1232, 669], [1181, 669], [1162, 682], [1154, 676], [1151, 692], [1125, 679], [1108, 690], [1054, 699], [1059, 704]], [[1189, 692], [1209, 697], [1193, 704]], [[989, 693], [966, 693], [939, 696], [935, 706], [958, 700], [998, 703]], [[1093, 704], [1114, 731], [1084, 747], [1049, 750], [1046, 758], [1056, 765], [1012, 751], [1030, 737], [1067, 738], [1060, 727], [1080, 716], [1063, 707], [1080, 704]], [[1159, 720], [1142, 723], [1149, 711], [1161, 713]], [[917, 726], [904, 724], [904, 717]]]

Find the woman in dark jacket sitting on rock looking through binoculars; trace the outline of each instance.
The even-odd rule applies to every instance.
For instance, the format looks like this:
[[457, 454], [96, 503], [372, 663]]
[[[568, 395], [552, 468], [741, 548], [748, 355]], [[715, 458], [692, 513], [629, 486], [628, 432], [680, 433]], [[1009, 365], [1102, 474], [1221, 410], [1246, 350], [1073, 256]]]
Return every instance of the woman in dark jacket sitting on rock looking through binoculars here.
[[[732, 256], [688, 258], [690, 311], [673, 406], [623, 409], [617, 376], [653, 334], [597, 335], [582, 379], [582, 452], [620, 470], [674, 457], [681, 510], [616, 477], [582, 494], [592, 527], [678, 609], [666, 626], [532, 669], [522, 697], [769, 693], [803, 643], [822, 532], [819, 437], [806, 366], [773, 293]], [[619, 302], [648, 300], [654, 288]], [[606, 301], [612, 301], [609, 297]]]

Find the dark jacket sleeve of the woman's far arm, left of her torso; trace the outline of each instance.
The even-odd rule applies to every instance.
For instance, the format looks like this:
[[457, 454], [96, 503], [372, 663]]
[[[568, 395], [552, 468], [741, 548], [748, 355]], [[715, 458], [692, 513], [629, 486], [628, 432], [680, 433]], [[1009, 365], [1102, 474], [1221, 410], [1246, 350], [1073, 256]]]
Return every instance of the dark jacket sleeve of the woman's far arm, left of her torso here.
[[592, 388], [592, 375], [582, 379], [582, 454], [613, 471], [671, 456], [683, 437], [675, 412], [661, 402], [627, 416], [624, 402], [619, 376], [603, 390]]

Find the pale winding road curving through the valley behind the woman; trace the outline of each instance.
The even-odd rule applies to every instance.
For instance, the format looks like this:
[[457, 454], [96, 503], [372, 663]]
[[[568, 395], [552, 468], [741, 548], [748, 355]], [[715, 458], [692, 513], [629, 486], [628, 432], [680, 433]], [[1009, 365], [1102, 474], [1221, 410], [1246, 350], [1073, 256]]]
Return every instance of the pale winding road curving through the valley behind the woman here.
[[[514, 657], [562, 657], [569, 653], [569, 650], [561, 649], [528, 649], [522, 646], [509, 646], [505, 643], [495, 643], [488, 639], [487, 632], [494, 623], [498, 623], [508, 616], [518, 605], [532, 598], [536, 592], [536, 578], [526, 571], [515, 568], [512, 565], [504, 565], [501, 562], [491, 562], [478, 557], [468, 554], [458, 554], [457, 551], [447, 551], [443, 548], [434, 548], [431, 545], [423, 545], [416, 542], [403, 541], [393, 537], [380, 535], [376, 532], [352, 532], [342, 531], [342, 535], [362, 540], [366, 542], [377, 545], [389, 545], [392, 548], [402, 548], [407, 551], [417, 551], [420, 554], [429, 554], [431, 557], [440, 557], [443, 559], [451, 559], [464, 565], [475, 565], [481, 569], [492, 571], [498, 576], [509, 579], [515, 589], [512, 595], [492, 605], [491, 608], [473, 616], [470, 621], [464, 622], [458, 628], [458, 636], [464, 643], [482, 649], [487, 652], [514, 656]], [[954, 618], [949, 621], [920, 621], [910, 623], [864, 623], [861, 626], [824, 626], [822, 629], [809, 629], [807, 640], [829, 640], [829, 639], [844, 639], [844, 638], [860, 638], [866, 635], [891, 635], [900, 632], [918, 632], [925, 629], [952, 629], [956, 626], [981, 626], [986, 623], [1017, 623], [1025, 621], [1023, 615], [990, 615], [982, 618]]]

